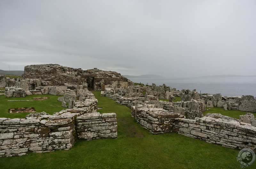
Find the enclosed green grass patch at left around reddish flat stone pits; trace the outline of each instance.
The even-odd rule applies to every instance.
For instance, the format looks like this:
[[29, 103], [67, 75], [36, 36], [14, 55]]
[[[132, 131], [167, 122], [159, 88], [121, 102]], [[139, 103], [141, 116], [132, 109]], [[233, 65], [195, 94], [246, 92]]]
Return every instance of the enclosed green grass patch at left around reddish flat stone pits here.
[[[49, 97], [46, 100], [34, 100], [33, 97]], [[30, 95], [26, 97], [5, 97], [5, 95], [0, 95], [0, 117], [6, 118], [25, 118], [29, 113], [9, 113], [9, 109], [22, 108], [22, 107], [34, 107], [36, 112], [46, 112], [53, 114], [54, 112], [59, 112], [62, 109], [61, 102], [57, 99], [60, 96], [55, 95]], [[8, 100], [33, 100], [31, 101], [8, 101]]]

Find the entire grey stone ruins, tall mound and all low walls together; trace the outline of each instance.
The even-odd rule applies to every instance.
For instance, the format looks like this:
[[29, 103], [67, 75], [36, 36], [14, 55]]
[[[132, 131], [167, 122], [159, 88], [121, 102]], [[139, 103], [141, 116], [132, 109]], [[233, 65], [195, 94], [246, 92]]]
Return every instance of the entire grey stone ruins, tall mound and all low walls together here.
[[[68, 103], [69, 109], [54, 113], [52, 116], [44, 113], [38, 116], [34, 114], [33, 117], [18, 119], [18, 122], [15, 121], [16, 119], [0, 118], [0, 125], [10, 127], [8, 131], [12, 131], [8, 133], [7, 130], [0, 128], [0, 143], [2, 143], [0, 148], [4, 149], [0, 150], [2, 157], [24, 155], [28, 150], [44, 152], [70, 149], [74, 144], [74, 135], [70, 133], [75, 130], [78, 139], [115, 138], [117, 136], [116, 115], [97, 113], [95, 108], [97, 99], [87, 87], [101, 90], [101, 96], [110, 97], [119, 104], [131, 107], [132, 117], [152, 134], [176, 132], [229, 148], [256, 150], [256, 119], [253, 114], [247, 113], [240, 116], [239, 120], [220, 114], [207, 114], [205, 117], [202, 114], [206, 107], [213, 106], [223, 107], [225, 110], [256, 112], [256, 101], [253, 96], [202, 95], [196, 90], [176, 91], [175, 88], [164, 84], [159, 87], [155, 84], [135, 86], [116, 72], [101, 71], [97, 68], [83, 71], [53, 64], [30, 65], [25, 67], [25, 72], [26, 79], [8, 79], [7, 88], [5, 88], [7, 94], [13, 93], [12, 96], [15, 97], [22, 92], [27, 95], [29, 91], [32, 94], [48, 92], [48, 94], [64, 95], [58, 100], [62, 102], [63, 107], [67, 107]], [[31, 92], [31, 90], [35, 91]], [[142, 90], [146, 91], [145, 95], [141, 94]], [[158, 101], [158, 99], [171, 101], [175, 96], [180, 96], [181, 101]], [[92, 104], [95, 105], [92, 106]], [[96, 119], [99, 119], [99, 122], [96, 123]], [[46, 125], [48, 123], [49, 125]], [[14, 124], [17, 126], [14, 127]], [[57, 130], [58, 127], [56, 128], [55, 124], [60, 129]], [[32, 129], [27, 125], [32, 126]], [[23, 131], [19, 127], [29, 128], [29, 131]], [[39, 132], [39, 128], [45, 129], [44, 132], [41, 130]], [[35, 132], [34, 135], [31, 132]], [[31, 137], [34, 136], [38, 141], [31, 142]], [[39, 141], [43, 139], [42, 137], [45, 137], [44, 142]], [[21, 146], [18, 148], [12, 144]]]

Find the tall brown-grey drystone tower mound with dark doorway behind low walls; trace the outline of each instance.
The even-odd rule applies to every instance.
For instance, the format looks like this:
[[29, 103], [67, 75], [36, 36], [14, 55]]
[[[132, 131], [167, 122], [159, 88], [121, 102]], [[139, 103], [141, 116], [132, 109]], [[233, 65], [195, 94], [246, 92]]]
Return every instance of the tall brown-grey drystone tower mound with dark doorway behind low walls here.
[[103, 71], [97, 68], [82, 70], [58, 64], [26, 66], [23, 78], [41, 79], [42, 86], [65, 86], [65, 83], [83, 85], [86, 82], [88, 88], [94, 90], [101, 90], [102, 83], [111, 85], [113, 81], [118, 82], [118, 88], [126, 88], [132, 84], [132, 81], [117, 72]]

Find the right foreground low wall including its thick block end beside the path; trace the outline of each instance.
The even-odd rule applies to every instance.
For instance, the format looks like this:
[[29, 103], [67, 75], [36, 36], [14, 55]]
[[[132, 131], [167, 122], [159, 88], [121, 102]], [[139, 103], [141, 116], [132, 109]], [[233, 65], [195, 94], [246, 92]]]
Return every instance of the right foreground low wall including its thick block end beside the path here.
[[176, 132], [188, 137], [220, 144], [229, 148], [250, 148], [256, 151], [256, 127], [227, 117], [187, 119], [164, 109], [132, 107], [132, 117], [153, 134]]

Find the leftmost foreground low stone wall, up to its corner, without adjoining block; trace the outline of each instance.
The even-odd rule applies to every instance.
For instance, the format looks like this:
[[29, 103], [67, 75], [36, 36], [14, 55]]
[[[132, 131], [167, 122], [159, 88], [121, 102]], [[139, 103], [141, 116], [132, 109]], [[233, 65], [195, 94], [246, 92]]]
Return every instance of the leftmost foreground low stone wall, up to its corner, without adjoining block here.
[[69, 118], [51, 115], [25, 119], [0, 118], [0, 157], [21, 156], [34, 152], [70, 149], [75, 141], [76, 114]]

